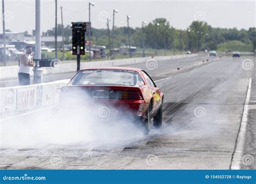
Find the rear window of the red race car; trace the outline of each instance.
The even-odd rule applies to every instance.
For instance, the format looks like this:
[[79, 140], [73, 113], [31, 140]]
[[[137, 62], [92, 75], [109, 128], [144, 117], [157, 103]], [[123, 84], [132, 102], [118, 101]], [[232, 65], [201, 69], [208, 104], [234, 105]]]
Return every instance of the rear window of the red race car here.
[[70, 81], [69, 85], [114, 85], [142, 86], [142, 77], [134, 71], [114, 69], [82, 70]]

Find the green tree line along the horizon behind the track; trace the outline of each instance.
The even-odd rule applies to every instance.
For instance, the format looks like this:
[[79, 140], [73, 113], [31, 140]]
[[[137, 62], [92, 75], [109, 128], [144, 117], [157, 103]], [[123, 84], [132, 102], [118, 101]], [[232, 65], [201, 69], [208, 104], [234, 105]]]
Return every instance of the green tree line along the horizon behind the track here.
[[[58, 36], [62, 36], [62, 30], [64, 31], [64, 43], [71, 43], [71, 26], [62, 25], [57, 26]], [[157, 49], [177, 49], [182, 51], [198, 52], [207, 50], [217, 50], [223, 48], [224, 45], [230, 41], [232, 44], [250, 45], [251, 51], [256, 47], [256, 28], [250, 27], [250, 29], [238, 30], [215, 28], [208, 25], [206, 22], [194, 21], [187, 29], [177, 29], [170, 25], [165, 18], [157, 18], [143, 27], [132, 28], [129, 27], [131, 35], [131, 46], [143, 48], [143, 40], [146, 48]], [[114, 35], [114, 47], [128, 45], [128, 28], [127, 27], [115, 27], [114, 31], [110, 30], [110, 34]], [[43, 32], [43, 36], [54, 36], [55, 28]], [[92, 28], [93, 44], [105, 45], [107, 48], [111, 46], [109, 44], [108, 30]], [[112, 39], [111, 39], [112, 41]], [[228, 44], [226, 44], [228, 45]], [[238, 47], [240, 48], [240, 47]], [[227, 49], [226, 47], [223, 49]]]

